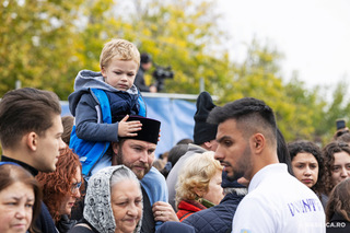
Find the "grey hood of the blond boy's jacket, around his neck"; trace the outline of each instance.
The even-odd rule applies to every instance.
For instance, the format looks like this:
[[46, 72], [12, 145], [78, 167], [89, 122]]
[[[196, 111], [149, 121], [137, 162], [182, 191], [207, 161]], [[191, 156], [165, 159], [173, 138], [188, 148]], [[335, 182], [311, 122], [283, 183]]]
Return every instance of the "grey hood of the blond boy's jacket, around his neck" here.
[[[74, 92], [68, 96], [69, 109], [73, 116], [75, 116], [75, 108], [81, 95], [84, 93], [89, 93], [90, 89], [100, 89], [108, 92], [124, 92], [106, 83], [101, 72], [81, 70], [79, 71], [74, 81]], [[136, 95], [139, 93], [138, 89], [133, 84], [126, 92], [131, 95]]]

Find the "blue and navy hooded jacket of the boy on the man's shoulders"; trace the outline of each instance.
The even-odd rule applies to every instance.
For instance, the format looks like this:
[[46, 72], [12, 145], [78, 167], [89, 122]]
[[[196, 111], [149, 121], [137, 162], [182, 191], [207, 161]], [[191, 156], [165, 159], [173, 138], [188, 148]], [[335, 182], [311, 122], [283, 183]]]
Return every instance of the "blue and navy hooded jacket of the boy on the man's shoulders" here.
[[118, 141], [120, 115], [145, 116], [145, 104], [135, 85], [119, 91], [104, 82], [101, 72], [82, 70], [78, 73], [74, 92], [68, 97], [69, 109], [75, 117], [69, 147], [79, 155], [85, 178], [98, 166], [110, 165], [106, 154], [112, 141]]

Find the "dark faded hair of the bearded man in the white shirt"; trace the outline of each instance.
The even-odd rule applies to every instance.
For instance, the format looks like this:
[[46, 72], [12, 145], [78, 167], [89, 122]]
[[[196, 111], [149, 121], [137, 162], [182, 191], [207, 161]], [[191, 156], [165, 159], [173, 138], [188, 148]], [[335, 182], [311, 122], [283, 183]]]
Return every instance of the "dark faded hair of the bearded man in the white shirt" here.
[[265, 102], [254, 97], [244, 97], [222, 107], [215, 107], [210, 112], [208, 123], [219, 125], [228, 119], [236, 120], [237, 128], [242, 129], [245, 137], [260, 131], [276, 144], [277, 125], [275, 114]]

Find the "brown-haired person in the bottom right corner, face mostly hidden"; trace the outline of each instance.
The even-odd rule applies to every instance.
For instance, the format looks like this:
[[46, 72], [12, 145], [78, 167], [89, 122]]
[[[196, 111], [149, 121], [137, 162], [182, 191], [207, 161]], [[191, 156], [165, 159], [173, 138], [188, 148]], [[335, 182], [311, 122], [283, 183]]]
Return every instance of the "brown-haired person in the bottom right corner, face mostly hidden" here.
[[340, 182], [326, 207], [327, 233], [350, 232], [350, 178]]

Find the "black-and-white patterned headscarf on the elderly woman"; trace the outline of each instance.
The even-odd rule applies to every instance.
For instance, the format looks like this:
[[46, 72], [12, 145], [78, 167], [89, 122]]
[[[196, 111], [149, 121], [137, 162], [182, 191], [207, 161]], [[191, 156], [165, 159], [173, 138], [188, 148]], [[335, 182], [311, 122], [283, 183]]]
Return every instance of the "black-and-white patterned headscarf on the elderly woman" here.
[[[108, 166], [95, 173], [88, 182], [84, 219], [100, 233], [114, 233], [116, 222], [110, 205], [110, 177], [124, 165]], [[140, 232], [142, 217], [135, 232]]]

